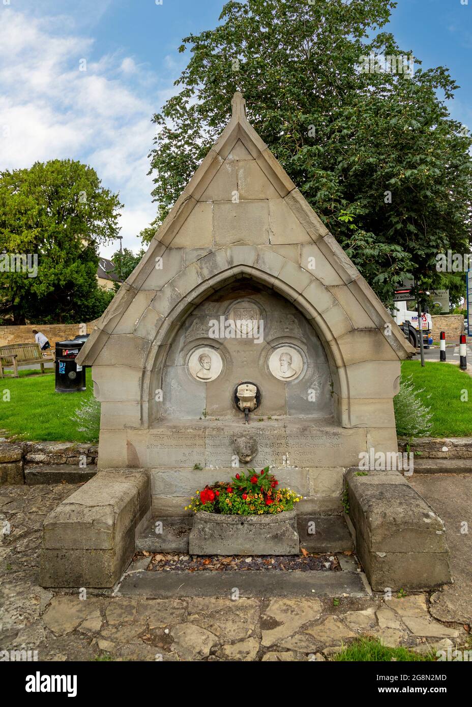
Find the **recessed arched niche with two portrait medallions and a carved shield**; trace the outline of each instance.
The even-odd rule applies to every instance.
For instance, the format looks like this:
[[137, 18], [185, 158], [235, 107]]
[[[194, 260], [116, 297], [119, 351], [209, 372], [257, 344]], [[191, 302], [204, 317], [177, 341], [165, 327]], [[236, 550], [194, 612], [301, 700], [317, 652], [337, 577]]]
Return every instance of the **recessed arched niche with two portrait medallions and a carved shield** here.
[[243, 380], [261, 393], [253, 419], [333, 419], [333, 380], [317, 333], [293, 303], [249, 279], [211, 293], [182, 322], [151, 421], [241, 419], [234, 393]]

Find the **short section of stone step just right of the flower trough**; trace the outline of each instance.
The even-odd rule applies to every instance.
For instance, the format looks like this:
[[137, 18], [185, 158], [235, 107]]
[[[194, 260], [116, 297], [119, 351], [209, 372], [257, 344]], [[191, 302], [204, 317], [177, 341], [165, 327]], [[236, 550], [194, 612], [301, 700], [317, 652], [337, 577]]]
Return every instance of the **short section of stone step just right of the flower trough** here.
[[353, 539], [342, 515], [297, 515], [300, 547], [308, 552], [353, 550]]

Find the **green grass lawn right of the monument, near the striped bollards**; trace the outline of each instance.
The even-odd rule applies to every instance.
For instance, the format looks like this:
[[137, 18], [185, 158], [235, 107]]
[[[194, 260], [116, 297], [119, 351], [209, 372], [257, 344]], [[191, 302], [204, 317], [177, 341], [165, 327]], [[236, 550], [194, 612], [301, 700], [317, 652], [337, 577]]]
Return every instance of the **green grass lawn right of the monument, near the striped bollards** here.
[[[412, 376], [426, 407], [431, 408], [431, 437], [472, 437], [472, 378], [459, 366], [439, 361], [403, 361], [403, 378]], [[468, 399], [464, 401], [464, 390]]]

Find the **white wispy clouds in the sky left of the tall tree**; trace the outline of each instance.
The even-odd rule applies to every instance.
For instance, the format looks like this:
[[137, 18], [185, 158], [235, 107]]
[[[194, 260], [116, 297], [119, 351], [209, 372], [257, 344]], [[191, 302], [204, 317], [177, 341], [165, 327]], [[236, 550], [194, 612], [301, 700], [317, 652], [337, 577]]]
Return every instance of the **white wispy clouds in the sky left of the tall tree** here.
[[[166, 70], [172, 57], [163, 76], [124, 52], [89, 61], [96, 55], [90, 25], [109, 2], [74, 5], [73, 17], [54, 16], [48, 3], [49, 16], [28, 2], [26, 13], [0, 8], [0, 169], [66, 157], [90, 164], [105, 187], [119, 192], [123, 246], [138, 250], [136, 235], [156, 211], [146, 174], [151, 117], [175, 93], [175, 72]], [[81, 59], [86, 71], [79, 71]], [[114, 250], [102, 247], [102, 255]]]

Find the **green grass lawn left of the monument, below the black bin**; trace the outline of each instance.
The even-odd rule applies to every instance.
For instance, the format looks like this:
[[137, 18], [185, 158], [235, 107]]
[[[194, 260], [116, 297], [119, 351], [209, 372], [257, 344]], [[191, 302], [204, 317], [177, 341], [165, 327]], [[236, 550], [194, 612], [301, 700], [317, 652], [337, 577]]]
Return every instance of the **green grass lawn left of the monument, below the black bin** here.
[[[25, 440], [90, 442], [86, 433], [77, 430], [71, 416], [84, 397], [93, 395], [91, 370], [86, 370], [87, 390], [57, 393], [54, 374], [32, 375], [33, 370], [19, 371], [20, 378], [0, 380], [0, 428], [4, 436]], [[5, 391], [10, 391], [9, 402]]]

